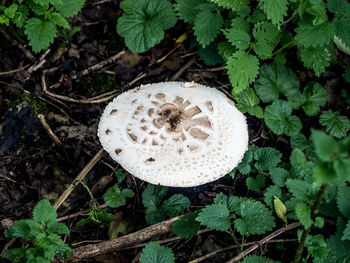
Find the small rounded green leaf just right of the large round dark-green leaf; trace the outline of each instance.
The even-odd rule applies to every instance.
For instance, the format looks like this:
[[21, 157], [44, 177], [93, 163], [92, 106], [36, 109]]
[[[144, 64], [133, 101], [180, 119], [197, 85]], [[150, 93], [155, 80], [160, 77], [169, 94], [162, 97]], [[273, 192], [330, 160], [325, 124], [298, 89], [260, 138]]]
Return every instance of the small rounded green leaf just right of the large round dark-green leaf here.
[[308, 83], [303, 90], [306, 98], [303, 104], [303, 110], [308, 116], [316, 116], [320, 113], [320, 107], [324, 106], [327, 101], [326, 90], [318, 83]]

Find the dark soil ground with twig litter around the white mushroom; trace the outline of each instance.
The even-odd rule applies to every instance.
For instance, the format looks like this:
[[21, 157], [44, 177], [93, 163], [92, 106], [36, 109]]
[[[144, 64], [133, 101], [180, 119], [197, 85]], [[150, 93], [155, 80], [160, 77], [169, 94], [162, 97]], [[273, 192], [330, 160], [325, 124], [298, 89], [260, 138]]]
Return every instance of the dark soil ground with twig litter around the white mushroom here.
[[[206, 70], [208, 67], [198, 58], [196, 50], [190, 48], [189, 40], [182, 44], [175, 42], [177, 37], [189, 30], [181, 23], [168, 31], [162, 43], [149, 52], [136, 55], [125, 51], [119, 59], [108, 63], [102, 69], [93, 70], [83, 76], [78, 74], [78, 78], [74, 79], [76, 73], [112, 57], [125, 48], [123, 40], [115, 30], [120, 12], [119, 1], [96, 4], [94, 1], [87, 1], [82, 12], [72, 21], [72, 25], [80, 27], [80, 30], [71, 37], [67, 35], [73, 32], [62, 33], [46, 55], [46, 62], [31, 73], [27, 70], [37, 63], [36, 60], [41, 54], [34, 54], [35, 60], [31, 61], [22, 47], [13, 45], [11, 35], [5, 37], [0, 34], [0, 72], [25, 67], [12, 74], [0, 74], [0, 220], [2, 222], [5, 222], [3, 219], [30, 218], [34, 205], [41, 199], [46, 198], [54, 203], [66, 185], [74, 180], [101, 148], [96, 136], [96, 127], [108, 101], [77, 103], [46, 94], [42, 85], [44, 70], [50, 70], [45, 74], [46, 85], [50, 92], [77, 100], [86, 100], [111, 91], [116, 95], [140, 84], [174, 79], [219, 87], [230, 94], [231, 86], [224, 71]], [[25, 49], [30, 50], [29, 47]], [[160, 59], [162, 60], [159, 61]], [[340, 58], [340, 64], [331, 67], [323, 75], [326, 88], [342, 84], [339, 74], [342, 70], [339, 70], [339, 67], [349, 64], [348, 59]], [[297, 67], [292, 62], [291, 66]], [[304, 81], [313, 78], [309, 72], [304, 75]], [[329, 102], [336, 104], [338, 94], [329, 94], [334, 96]], [[58, 145], [49, 136], [37, 118], [38, 114], [44, 115], [62, 145]], [[279, 149], [290, 151], [285, 138], [272, 140], [258, 119], [247, 117], [250, 141], [259, 146], [278, 145]], [[112, 175], [116, 169], [121, 167], [105, 154], [85, 179], [85, 183], [93, 189], [95, 198], [101, 204], [103, 193], [113, 185], [115, 179]], [[127, 176], [125, 184], [134, 190], [136, 197], [130, 199], [121, 209], [108, 211], [118, 212], [117, 218], [127, 220], [132, 225], [130, 231], [142, 229], [146, 227], [146, 223], [143, 219], [144, 207], [140, 193], [146, 184], [130, 175]], [[211, 203], [215, 194], [219, 192], [259, 197], [248, 192], [245, 177], [239, 174], [233, 180], [226, 176], [197, 189], [170, 189], [169, 194], [174, 192], [181, 192], [191, 199], [192, 211]], [[58, 217], [88, 209], [89, 204], [88, 193], [82, 186], [78, 186], [59, 209]], [[89, 224], [77, 227], [76, 223], [80, 219], [80, 216], [76, 216], [64, 221], [71, 230], [71, 235], [65, 238], [65, 242], [71, 247], [76, 247], [77, 243], [84, 245], [109, 238], [108, 226]], [[3, 229], [0, 235], [1, 249], [10, 242], [5, 239]], [[173, 235], [167, 234], [159, 239], [171, 236]], [[281, 238], [295, 239], [295, 232], [286, 233]], [[17, 240], [11, 247], [20, 246], [20, 242]], [[227, 235], [211, 231], [190, 240], [169, 242], [167, 246], [175, 252], [177, 262], [188, 262], [230, 244], [233, 242]], [[285, 244], [287, 245], [283, 245], [283, 249], [278, 244], [264, 245], [256, 253], [268, 253], [266, 255], [278, 253], [278, 259], [285, 262], [291, 256], [288, 251], [293, 250], [296, 243]], [[136, 262], [141, 249], [122, 250], [90, 261]], [[235, 250], [229, 250], [203, 262], [225, 262], [235, 254]]]

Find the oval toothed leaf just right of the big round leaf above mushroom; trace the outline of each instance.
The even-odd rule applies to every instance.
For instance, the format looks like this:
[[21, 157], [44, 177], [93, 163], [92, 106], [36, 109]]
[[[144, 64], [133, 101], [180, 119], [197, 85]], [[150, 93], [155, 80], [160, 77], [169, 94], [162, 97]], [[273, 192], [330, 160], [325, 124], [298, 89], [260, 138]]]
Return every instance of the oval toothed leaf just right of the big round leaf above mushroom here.
[[194, 35], [202, 47], [208, 46], [220, 33], [224, 20], [219, 12], [200, 11], [194, 21]]

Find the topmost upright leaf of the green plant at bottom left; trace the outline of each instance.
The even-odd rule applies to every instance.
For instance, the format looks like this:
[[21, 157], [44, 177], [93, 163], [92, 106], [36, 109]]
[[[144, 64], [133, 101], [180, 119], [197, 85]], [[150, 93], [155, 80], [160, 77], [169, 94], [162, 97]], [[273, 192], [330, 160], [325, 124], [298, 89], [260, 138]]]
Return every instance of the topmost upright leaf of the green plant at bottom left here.
[[54, 223], [57, 220], [56, 209], [51, 206], [49, 200], [40, 200], [34, 207], [33, 219], [41, 225]]

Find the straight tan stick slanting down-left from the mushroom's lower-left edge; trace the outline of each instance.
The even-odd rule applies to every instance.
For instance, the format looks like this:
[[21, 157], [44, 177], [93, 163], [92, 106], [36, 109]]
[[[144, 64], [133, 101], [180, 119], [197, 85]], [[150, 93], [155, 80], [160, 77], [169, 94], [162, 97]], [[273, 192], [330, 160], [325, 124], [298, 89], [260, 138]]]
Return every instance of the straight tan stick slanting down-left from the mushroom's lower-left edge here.
[[102, 158], [105, 151], [100, 149], [95, 156], [90, 160], [90, 162], [84, 167], [83, 170], [78, 174], [78, 176], [74, 179], [74, 181], [68, 186], [66, 191], [63, 192], [63, 194], [57, 199], [56, 203], [54, 204], [54, 208], [57, 210], [63, 202], [68, 198], [70, 193], [74, 190], [74, 188], [81, 182], [81, 180], [84, 179], [84, 177], [90, 172], [90, 170], [94, 167], [94, 165]]

